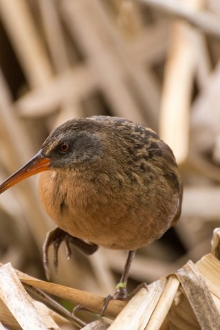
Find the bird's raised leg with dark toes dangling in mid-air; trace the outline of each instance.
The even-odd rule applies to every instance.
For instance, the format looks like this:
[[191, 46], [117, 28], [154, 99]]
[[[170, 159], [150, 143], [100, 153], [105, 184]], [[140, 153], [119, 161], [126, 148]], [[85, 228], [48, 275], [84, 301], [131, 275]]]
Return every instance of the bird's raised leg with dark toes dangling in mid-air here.
[[71, 236], [61, 228], [54, 228], [54, 230], [50, 230], [47, 232], [47, 236], [43, 243], [43, 267], [45, 270], [45, 275], [47, 280], [50, 280], [50, 268], [49, 268], [49, 259], [48, 259], [48, 250], [50, 245], [54, 245], [54, 268], [57, 272], [58, 268], [58, 250], [62, 242], [65, 242], [66, 251], [67, 251], [67, 259], [71, 256], [71, 250], [69, 248], [69, 243], [72, 243], [76, 246], [80, 251], [87, 255], [94, 254], [98, 250], [98, 245], [94, 243], [86, 243], [77, 237]]

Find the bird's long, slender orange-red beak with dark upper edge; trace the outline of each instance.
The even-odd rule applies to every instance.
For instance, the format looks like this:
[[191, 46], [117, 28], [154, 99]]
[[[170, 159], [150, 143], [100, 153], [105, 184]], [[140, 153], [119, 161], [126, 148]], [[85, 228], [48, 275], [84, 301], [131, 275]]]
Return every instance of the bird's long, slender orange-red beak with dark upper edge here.
[[32, 159], [30, 159], [30, 162], [19, 168], [19, 170], [10, 175], [8, 179], [3, 181], [0, 185], [0, 194], [8, 188], [14, 186], [14, 184], [18, 184], [23, 179], [31, 177], [36, 173], [43, 172], [43, 170], [47, 170], [49, 167], [50, 159], [43, 157], [42, 151], [40, 150]]

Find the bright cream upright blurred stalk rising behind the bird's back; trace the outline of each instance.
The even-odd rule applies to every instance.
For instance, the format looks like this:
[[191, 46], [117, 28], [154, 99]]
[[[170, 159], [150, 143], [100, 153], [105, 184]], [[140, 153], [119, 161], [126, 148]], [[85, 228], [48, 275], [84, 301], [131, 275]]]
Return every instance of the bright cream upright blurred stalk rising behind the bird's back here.
[[[203, 0], [188, 1], [192, 10], [201, 8]], [[173, 24], [173, 39], [166, 63], [162, 92], [160, 134], [172, 148], [177, 163], [188, 155], [190, 101], [197, 66], [198, 32], [186, 23]]]

